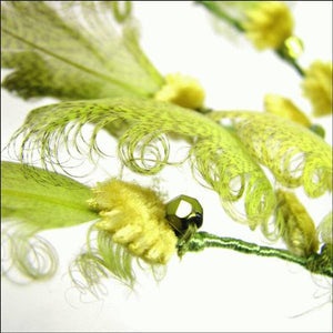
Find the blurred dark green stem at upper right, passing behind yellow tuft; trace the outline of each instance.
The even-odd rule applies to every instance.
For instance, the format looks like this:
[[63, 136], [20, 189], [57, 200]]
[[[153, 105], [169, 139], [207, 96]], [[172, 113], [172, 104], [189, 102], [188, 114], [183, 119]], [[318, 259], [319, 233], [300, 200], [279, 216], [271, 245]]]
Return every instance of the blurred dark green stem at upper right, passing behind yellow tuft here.
[[[232, 18], [225, 11], [223, 11], [216, 3], [214, 3], [214, 1], [194, 1], [194, 2], [199, 3], [199, 4], [202, 4], [210, 12], [212, 12], [215, 17], [226, 21], [232, 27], [234, 27], [238, 31], [245, 32], [245, 29], [242, 27], [241, 22], [238, 21], [236, 19]], [[301, 65], [297, 63], [297, 61], [294, 58], [290, 57], [285, 52], [283, 46], [280, 49], [274, 50], [274, 51], [275, 51], [275, 54], [279, 56], [282, 60], [290, 63], [301, 77], [305, 75], [304, 70], [301, 68]]]

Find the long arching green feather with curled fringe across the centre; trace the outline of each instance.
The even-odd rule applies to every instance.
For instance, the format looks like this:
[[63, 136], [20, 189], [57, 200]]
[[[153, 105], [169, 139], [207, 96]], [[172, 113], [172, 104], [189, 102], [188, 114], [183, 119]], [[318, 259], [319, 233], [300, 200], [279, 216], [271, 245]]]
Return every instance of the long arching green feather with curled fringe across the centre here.
[[[21, 161], [31, 162], [38, 152], [44, 168], [48, 163], [54, 167], [59, 142], [75, 147], [82, 127], [93, 123], [91, 137], [85, 138], [92, 158], [100, 153], [98, 132], [117, 121], [130, 124], [119, 139], [118, 154], [131, 170], [143, 174], [159, 172], [170, 163], [165, 134], [182, 135], [193, 142], [189, 152], [193, 172], [199, 172], [205, 184], [220, 194], [234, 220], [255, 228], [271, 215], [275, 204], [272, 186], [239, 139], [189, 109], [133, 98], [63, 102], [31, 111], [12, 143], [21, 142]], [[234, 206], [241, 198], [243, 212]]]

